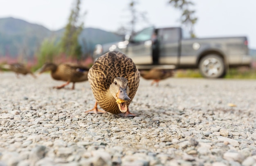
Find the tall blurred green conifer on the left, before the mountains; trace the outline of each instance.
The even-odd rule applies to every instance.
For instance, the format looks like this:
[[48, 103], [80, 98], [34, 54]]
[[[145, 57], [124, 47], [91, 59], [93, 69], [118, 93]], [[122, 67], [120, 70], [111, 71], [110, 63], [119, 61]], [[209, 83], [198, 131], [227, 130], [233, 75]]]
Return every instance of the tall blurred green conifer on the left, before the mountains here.
[[80, 4], [81, 0], [76, 0], [61, 38], [61, 51], [77, 59], [82, 56], [81, 45], [79, 44], [79, 35], [83, 30], [83, 21], [79, 19]]

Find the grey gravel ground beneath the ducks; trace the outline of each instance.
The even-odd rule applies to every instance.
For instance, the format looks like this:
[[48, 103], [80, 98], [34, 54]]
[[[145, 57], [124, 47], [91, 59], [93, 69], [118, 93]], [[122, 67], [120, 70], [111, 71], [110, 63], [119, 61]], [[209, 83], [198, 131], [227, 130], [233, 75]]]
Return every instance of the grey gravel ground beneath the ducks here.
[[134, 118], [62, 83], [0, 73], [0, 166], [256, 166], [255, 80], [141, 78]]

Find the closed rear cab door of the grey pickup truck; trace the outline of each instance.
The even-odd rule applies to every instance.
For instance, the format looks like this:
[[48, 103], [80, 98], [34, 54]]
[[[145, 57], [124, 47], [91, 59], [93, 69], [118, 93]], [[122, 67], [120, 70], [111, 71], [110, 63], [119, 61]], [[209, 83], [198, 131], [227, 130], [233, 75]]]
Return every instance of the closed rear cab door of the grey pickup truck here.
[[159, 64], [178, 64], [180, 54], [180, 28], [164, 28], [158, 30]]

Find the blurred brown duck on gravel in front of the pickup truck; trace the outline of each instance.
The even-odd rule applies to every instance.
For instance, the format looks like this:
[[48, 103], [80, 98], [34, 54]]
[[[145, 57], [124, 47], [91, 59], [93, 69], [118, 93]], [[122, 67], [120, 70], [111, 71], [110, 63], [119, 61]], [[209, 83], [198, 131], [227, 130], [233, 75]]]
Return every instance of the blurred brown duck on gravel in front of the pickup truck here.
[[173, 76], [173, 70], [171, 69], [156, 69], [153, 68], [151, 70], [140, 70], [140, 75], [147, 80], [152, 80], [153, 82], [151, 85], [154, 85], [156, 83], [156, 86], [159, 85], [159, 81], [163, 79], [167, 79], [171, 76]]

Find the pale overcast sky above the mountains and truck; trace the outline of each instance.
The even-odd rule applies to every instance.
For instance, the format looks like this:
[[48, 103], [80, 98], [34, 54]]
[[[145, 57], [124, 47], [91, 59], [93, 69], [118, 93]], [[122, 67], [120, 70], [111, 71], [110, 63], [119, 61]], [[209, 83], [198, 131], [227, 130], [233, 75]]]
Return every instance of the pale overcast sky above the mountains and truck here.
[[[156, 27], [179, 26], [180, 11], [169, 0], [137, 0], [137, 10], [146, 12]], [[195, 3], [197, 37], [247, 36], [249, 47], [256, 49], [256, 0], [191, 0]], [[14, 17], [58, 30], [67, 23], [74, 0], [0, 0], [0, 18]], [[130, 0], [82, 0], [87, 11], [85, 27], [116, 31], [129, 20]], [[148, 24], [140, 23], [136, 30]]]

